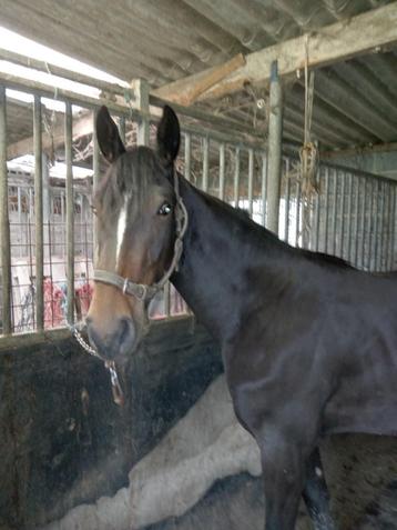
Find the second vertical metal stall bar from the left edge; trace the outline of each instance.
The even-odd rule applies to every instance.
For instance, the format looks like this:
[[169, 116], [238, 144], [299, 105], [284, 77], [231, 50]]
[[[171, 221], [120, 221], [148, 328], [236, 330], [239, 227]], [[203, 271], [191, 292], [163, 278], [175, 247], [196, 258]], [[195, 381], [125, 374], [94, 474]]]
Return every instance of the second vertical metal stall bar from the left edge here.
[[44, 232], [43, 232], [43, 171], [41, 149], [41, 100], [34, 96], [33, 102], [34, 138], [34, 220], [35, 220], [35, 326], [44, 328]]

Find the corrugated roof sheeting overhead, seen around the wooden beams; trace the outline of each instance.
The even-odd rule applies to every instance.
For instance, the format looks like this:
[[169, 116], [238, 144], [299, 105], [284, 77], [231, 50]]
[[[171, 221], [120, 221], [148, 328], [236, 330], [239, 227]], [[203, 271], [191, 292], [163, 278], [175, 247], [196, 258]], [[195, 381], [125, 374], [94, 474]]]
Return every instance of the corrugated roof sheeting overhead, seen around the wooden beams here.
[[[0, 0], [1, 23], [119, 78], [151, 86], [220, 64], [238, 52], [319, 30], [390, 3], [376, 0]], [[265, 89], [206, 103], [214, 112], [266, 128]], [[327, 148], [397, 140], [394, 50], [323, 68], [315, 74], [313, 134]], [[202, 103], [203, 104], [203, 103]], [[286, 90], [285, 138], [303, 139], [304, 87]]]

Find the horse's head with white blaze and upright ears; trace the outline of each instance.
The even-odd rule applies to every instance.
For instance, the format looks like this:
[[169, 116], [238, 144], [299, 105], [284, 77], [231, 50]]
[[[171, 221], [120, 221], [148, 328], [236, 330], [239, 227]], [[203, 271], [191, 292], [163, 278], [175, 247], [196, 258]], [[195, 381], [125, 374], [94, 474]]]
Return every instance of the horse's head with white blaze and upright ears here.
[[91, 343], [102, 357], [114, 359], [138, 346], [146, 328], [150, 298], [175, 262], [181, 202], [174, 188], [174, 160], [180, 126], [173, 110], [165, 107], [157, 150], [125, 150], [102, 107], [96, 138], [110, 168], [93, 199], [95, 288], [86, 323]]

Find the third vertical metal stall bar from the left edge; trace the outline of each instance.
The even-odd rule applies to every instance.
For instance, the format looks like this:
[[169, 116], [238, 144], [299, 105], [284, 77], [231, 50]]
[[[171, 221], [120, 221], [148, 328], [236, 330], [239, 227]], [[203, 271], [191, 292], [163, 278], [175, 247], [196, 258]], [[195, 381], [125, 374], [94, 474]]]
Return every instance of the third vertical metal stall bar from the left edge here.
[[74, 321], [74, 197], [72, 156], [72, 104], [67, 101], [64, 116], [64, 152], [67, 163], [67, 320]]

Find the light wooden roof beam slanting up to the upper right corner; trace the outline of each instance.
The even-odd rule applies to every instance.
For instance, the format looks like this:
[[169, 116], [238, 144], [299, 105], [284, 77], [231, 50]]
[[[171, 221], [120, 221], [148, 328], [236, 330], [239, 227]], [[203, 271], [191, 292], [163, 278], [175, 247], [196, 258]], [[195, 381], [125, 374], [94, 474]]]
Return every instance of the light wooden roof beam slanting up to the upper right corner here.
[[[305, 42], [308, 39], [308, 67], [318, 68], [344, 61], [369, 51], [379, 51], [397, 42], [397, 2], [366, 11], [350, 19], [325, 26], [318, 31], [271, 46], [245, 57], [245, 64], [212, 83], [205, 91], [198, 90], [197, 100], [223, 97], [238, 91], [246, 83], [264, 84], [269, 80], [271, 64], [278, 61], [281, 76], [295, 74], [305, 66]], [[220, 67], [216, 67], [220, 68]], [[157, 91], [172, 101], [184, 104], [203, 77], [211, 77], [213, 69], [189, 76]], [[177, 91], [175, 90], [177, 89]], [[189, 98], [187, 98], [189, 99]]]

